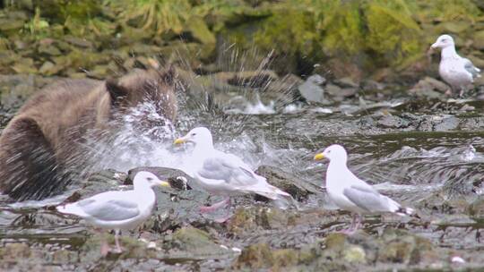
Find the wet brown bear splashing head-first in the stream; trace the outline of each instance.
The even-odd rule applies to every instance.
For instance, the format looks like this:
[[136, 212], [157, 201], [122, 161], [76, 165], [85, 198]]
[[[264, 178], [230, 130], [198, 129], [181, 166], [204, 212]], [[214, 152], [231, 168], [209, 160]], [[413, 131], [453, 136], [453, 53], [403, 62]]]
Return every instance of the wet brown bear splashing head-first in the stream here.
[[[172, 68], [136, 70], [119, 79], [64, 80], [39, 90], [0, 136], [0, 191], [13, 200], [41, 200], [65, 190], [88, 134], [103, 135], [146, 100], [172, 121], [177, 114]], [[75, 161], [76, 165], [73, 165]], [[81, 164], [81, 165], [79, 165]]]

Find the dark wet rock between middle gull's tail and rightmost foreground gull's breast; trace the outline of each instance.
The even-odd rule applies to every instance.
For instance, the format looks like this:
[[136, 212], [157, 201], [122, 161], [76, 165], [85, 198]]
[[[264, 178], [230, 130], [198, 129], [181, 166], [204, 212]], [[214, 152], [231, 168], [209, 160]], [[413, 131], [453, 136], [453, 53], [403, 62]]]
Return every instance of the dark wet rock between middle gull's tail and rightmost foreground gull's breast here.
[[320, 193], [320, 187], [307, 183], [296, 175], [284, 172], [275, 166], [259, 166], [257, 174], [264, 176], [271, 185], [288, 192], [295, 200], [304, 201], [310, 194]]

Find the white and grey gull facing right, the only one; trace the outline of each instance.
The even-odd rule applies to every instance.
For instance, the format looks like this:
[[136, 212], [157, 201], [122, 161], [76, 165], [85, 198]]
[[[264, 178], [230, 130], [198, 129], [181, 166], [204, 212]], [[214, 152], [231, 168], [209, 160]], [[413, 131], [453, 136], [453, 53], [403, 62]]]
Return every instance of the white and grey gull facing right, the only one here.
[[[141, 171], [134, 176], [134, 190], [105, 191], [77, 202], [57, 206], [57, 211], [82, 217], [91, 225], [101, 229], [115, 230], [115, 252], [123, 250], [119, 245], [119, 232], [141, 225], [151, 216], [156, 196], [152, 188], [156, 185], [169, 186], [150, 172]], [[108, 253], [106, 242], [101, 244], [101, 254]]]

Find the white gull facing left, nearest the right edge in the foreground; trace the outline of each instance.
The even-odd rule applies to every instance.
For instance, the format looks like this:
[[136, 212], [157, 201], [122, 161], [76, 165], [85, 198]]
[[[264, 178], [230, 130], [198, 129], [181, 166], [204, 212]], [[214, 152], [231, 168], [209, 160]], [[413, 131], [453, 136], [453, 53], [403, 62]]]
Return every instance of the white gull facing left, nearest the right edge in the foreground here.
[[355, 232], [360, 225], [360, 215], [376, 213], [395, 213], [400, 216], [411, 215], [412, 208], [402, 208], [396, 201], [380, 194], [371, 185], [351, 173], [346, 162], [348, 155], [341, 145], [331, 145], [324, 152], [315, 155], [315, 160], [329, 158], [326, 171], [326, 191], [338, 208], [353, 212], [353, 220], [344, 233]]

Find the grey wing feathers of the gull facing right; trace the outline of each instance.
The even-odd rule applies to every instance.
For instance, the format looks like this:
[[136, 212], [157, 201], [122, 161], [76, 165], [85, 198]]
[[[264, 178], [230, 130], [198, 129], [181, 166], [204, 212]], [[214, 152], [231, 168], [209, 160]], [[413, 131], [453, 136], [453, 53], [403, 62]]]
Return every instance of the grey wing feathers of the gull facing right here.
[[140, 214], [138, 205], [127, 200], [82, 200], [78, 202], [82, 210], [99, 220], [119, 221], [136, 217]]

